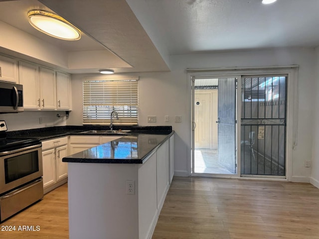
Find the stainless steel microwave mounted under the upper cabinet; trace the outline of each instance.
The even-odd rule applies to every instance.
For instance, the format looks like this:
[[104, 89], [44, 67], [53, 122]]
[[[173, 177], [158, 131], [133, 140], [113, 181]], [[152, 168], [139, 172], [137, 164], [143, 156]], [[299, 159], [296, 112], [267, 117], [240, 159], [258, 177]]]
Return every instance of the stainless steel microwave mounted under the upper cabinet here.
[[22, 85], [0, 82], [0, 113], [23, 112]]

